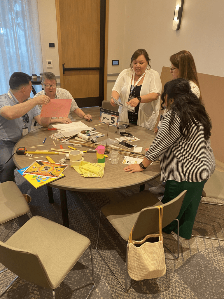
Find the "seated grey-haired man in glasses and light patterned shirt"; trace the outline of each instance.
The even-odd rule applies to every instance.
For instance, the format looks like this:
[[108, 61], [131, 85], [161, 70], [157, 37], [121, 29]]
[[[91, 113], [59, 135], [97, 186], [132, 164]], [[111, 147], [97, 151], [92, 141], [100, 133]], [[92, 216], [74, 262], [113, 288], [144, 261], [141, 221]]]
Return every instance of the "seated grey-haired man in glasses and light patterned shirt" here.
[[[43, 90], [35, 94], [35, 97], [38, 97], [42, 94], [47, 95], [50, 97], [51, 100], [53, 99], [71, 99], [71, 108], [68, 117], [63, 118], [52, 118], [50, 123], [71, 123], [75, 120], [72, 116], [72, 112], [74, 112], [80, 118], [84, 118], [85, 120], [92, 120], [92, 116], [90, 114], [85, 114], [76, 104], [73, 96], [70, 94], [69, 91], [63, 88], [57, 88], [57, 81], [55, 74], [51, 72], [43, 72], [42, 73], [42, 86]], [[42, 108], [42, 105], [39, 105], [39, 108]]]

